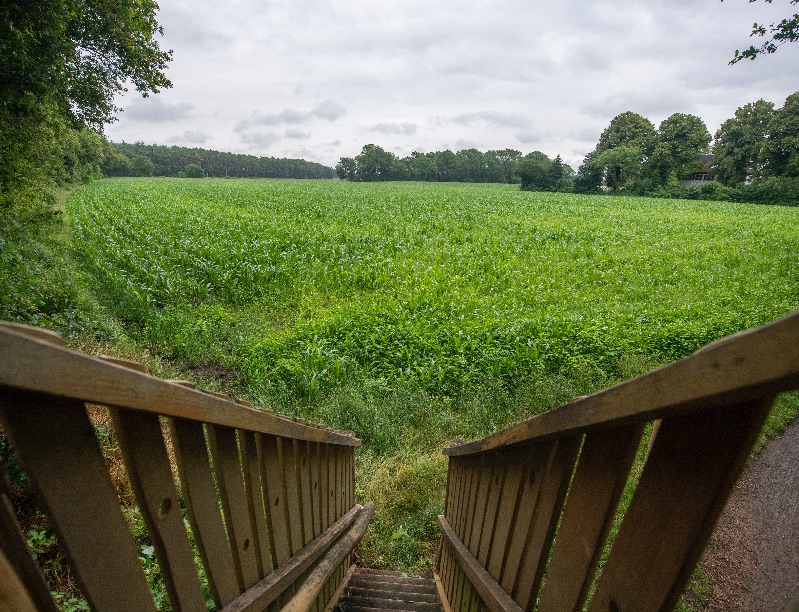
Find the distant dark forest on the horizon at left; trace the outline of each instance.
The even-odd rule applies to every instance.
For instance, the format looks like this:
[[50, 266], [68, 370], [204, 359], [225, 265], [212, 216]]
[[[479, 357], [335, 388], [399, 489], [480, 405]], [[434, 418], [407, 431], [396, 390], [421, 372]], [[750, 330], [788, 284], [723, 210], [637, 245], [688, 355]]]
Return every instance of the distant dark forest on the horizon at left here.
[[[141, 142], [114, 143], [117, 157], [107, 176], [182, 176], [187, 166], [198, 166], [203, 176], [240, 178], [326, 178], [336, 177], [334, 170], [304, 159], [256, 157], [211, 149], [146, 145]], [[152, 164], [149, 174], [136, 174], [131, 164], [143, 157]], [[193, 170], [196, 173], [196, 170]]]

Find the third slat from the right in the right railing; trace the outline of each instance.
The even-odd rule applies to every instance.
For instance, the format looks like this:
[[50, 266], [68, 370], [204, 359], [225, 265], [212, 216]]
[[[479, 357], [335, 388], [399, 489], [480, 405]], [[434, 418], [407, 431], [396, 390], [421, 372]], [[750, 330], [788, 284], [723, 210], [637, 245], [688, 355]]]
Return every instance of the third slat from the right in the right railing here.
[[582, 436], [558, 440], [546, 472], [542, 475], [527, 546], [516, 580], [515, 599], [523, 608], [532, 605], [541, 586], [581, 442]]

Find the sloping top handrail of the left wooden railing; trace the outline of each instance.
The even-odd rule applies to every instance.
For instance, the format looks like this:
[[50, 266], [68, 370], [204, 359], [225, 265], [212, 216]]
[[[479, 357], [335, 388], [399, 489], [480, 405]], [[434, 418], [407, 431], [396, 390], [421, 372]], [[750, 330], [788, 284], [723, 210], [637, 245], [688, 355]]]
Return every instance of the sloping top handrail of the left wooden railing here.
[[[0, 368], [0, 386], [299, 440], [360, 444], [349, 435], [281, 419], [267, 411], [104, 362], [7, 327], [0, 327], [0, 363], [4, 364]], [[42, 376], [42, 372], [47, 375]]]

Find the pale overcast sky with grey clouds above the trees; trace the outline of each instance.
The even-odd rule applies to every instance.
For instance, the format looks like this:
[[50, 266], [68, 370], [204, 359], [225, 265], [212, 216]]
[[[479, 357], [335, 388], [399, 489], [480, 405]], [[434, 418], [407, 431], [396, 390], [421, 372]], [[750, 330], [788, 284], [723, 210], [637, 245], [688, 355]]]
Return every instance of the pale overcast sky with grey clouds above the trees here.
[[799, 43], [728, 65], [788, 0], [160, 0], [173, 87], [121, 95], [114, 141], [335, 166], [476, 148], [575, 169], [611, 119], [701, 117], [711, 134], [799, 91]]

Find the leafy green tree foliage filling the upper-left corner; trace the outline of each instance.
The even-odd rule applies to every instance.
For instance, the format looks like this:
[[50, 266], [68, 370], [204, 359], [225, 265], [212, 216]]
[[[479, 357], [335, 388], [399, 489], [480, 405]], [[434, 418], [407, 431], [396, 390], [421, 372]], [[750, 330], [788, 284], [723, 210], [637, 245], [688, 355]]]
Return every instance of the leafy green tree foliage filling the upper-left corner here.
[[143, 95], [171, 85], [157, 10], [152, 0], [3, 2], [0, 204], [34, 205], [54, 182], [91, 173], [102, 155], [89, 130], [113, 120], [128, 81]]

